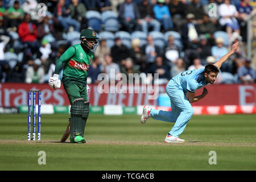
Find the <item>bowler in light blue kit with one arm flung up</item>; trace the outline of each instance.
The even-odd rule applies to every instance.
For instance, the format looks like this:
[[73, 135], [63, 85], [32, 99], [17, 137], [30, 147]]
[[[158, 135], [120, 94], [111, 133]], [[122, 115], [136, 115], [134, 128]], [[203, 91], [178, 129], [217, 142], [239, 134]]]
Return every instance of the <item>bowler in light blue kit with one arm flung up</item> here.
[[214, 83], [219, 72], [218, 69], [228, 60], [229, 56], [237, 51], [238, 44], [238, 42], [234, 43], [231, 50], [215, 64], [208, 64], [201, 69], [184, 71], [173, 77], [166, 85], [166, 92], [171, 100], [171, 111], [151, 109], [146, 105], [143, 108], [141, 123], [146, 123], [150, 117], [161, 121], [175, 122], [164, 142], [185, 142], [184, 139], [179, 138], [179, 135], [184, 131], [187, 122], [193, 115], [191, 103], [201, 100], [208, 94], [207, 89], [204, 88], [200, 96], [195, 96], [195, 90]]

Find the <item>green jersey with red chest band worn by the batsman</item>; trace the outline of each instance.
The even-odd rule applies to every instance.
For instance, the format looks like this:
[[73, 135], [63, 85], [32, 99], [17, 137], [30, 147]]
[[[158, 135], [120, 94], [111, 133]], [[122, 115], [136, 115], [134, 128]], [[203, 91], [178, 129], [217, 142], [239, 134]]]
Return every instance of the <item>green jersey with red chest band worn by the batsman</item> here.
[[65, 85], [80, 84], [86, 86], [88, 68], [93, 52], [82, 48], [81, 44], [71, 46], [57, 60], [54, 74], [59, 75], [64, 63], [62, 81]]

